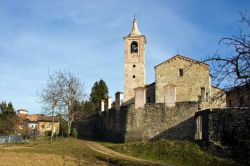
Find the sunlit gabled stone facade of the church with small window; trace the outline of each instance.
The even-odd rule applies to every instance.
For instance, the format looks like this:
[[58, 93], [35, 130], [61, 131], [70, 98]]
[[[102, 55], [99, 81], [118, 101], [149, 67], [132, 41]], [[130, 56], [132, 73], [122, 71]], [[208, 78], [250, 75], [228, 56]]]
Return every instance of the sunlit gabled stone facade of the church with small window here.
[[[179, 69], [183, 69], [180, 76]], [[208, 66], [176, 56], [155, 67], [156, 103], [164, 102], [164, 86], [176, 85], [176, 101], [198, 101], [201, 87], [210, 94], [210, 76]]]

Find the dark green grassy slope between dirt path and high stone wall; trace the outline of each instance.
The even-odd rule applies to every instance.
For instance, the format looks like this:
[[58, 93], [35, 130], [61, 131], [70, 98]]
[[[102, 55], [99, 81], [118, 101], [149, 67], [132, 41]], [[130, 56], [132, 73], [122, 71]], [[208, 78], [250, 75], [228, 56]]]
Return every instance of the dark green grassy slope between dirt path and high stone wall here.
[[102, 144], [124, 154], [170, 165], [240, 165], [208, 154], [197, 144], [188, 141], [161, 140], [147, 143]]

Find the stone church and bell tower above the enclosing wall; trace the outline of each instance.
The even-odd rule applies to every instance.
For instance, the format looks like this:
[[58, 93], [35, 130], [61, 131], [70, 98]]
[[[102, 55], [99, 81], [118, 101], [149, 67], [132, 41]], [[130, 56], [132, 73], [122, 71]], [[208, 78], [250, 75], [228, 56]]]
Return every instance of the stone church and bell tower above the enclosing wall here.
[[[155, 66], [155, 82], [145, 84], [146, 37], [140, 33], [134, 19], [132, 31], [125, 40], [124, 104], [135, 103], [136, 89], [144, 88], [147, 103], [200, 101], [202, 106], [224, 107], [225, 96], [214, 101], [220, 90], [211, 85], [209, 65], [197, 60], [175, 55]], [[143, 96], [143, 95], [142, 95]], [[213, 101], [212, 101], [213, 99]]]

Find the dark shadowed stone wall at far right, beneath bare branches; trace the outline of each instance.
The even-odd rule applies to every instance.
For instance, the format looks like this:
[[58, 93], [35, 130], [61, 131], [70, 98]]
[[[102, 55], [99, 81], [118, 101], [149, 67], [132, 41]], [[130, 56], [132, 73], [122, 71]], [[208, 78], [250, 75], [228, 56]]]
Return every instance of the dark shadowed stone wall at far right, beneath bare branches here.
[[204, 110], [196, 113], [202, 119], [202, 140], [226, 146], [232, 157], [250, 164], [250, 108]]

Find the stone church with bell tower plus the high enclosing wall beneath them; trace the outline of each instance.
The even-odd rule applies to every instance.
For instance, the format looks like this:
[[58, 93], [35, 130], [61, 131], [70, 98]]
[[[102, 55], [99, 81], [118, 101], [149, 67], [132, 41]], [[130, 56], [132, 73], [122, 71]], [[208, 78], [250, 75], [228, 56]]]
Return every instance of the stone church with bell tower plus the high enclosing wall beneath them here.
[[136, 19], [124, 40], [124, 93], [115, 94], [113, 108], [103, 107], [76, 123], [79, 136], [114, 142], [202, 139], [206, 123], [196, 113], [225, 112], [222, 107], [226, 106], [225, 92], [211, 85], [209, 65], [175, 55], [155, 66], [155, 82], [146, 85], [146, 39]]

